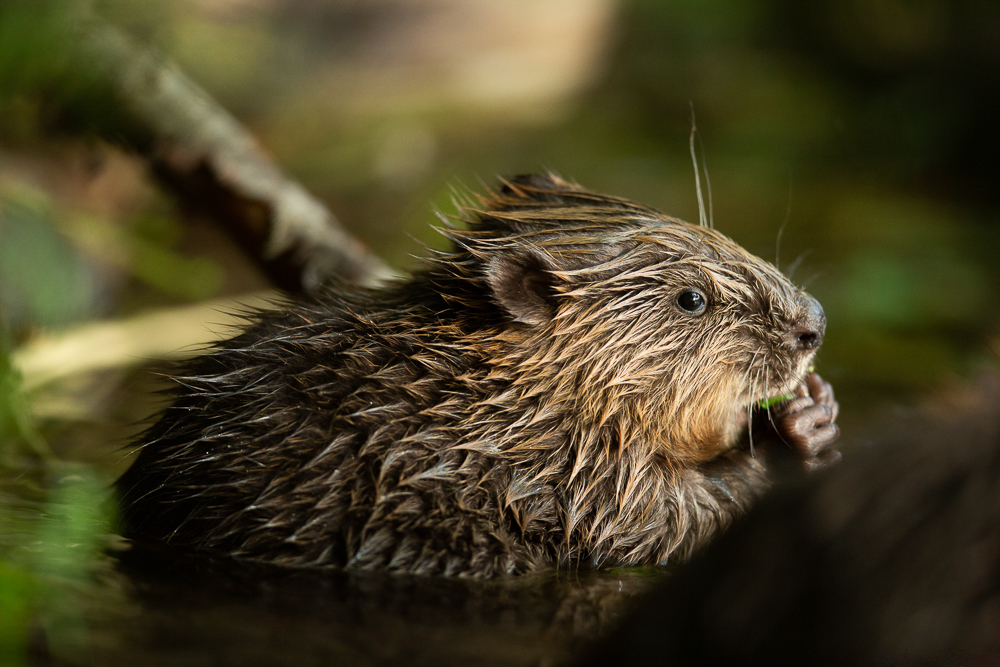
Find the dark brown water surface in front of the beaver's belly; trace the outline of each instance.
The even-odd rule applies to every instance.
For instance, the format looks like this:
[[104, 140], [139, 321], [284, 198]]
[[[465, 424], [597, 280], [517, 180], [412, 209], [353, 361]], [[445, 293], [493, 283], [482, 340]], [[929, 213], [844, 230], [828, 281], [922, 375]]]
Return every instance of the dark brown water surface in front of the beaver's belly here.
[[133, 548], [84, 586], [86, 631], [42, 663], [549, 665], [586, 649], [661, 571], [496, 581], [289, 571]]

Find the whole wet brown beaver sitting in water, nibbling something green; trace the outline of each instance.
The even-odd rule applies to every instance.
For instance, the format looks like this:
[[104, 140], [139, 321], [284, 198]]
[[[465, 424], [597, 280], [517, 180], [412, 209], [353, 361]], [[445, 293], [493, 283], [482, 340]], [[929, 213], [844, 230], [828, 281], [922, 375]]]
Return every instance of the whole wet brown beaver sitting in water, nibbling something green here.
[[552, 175], [479, 203], [408, 280], [258, 313], [178, 373], [118, 481], [125, 534], [422, 574], [657, 564], [782, 450], [839, 456], [823, 311], [773, 266]]

